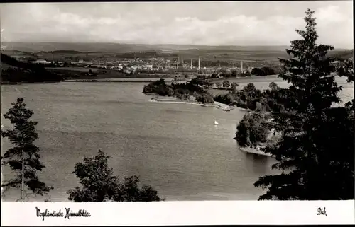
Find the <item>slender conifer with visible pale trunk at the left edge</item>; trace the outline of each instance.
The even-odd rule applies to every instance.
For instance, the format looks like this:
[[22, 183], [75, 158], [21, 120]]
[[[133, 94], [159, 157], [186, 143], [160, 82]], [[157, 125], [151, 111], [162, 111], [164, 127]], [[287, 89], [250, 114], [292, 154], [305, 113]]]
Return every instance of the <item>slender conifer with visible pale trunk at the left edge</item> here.
[[38, 139], [35, 132], [37, 122], [29, 120], [33, 112], [26, 109], [23, 98], [17, 98], [16, 103], [9, 112], [4, 114], [13, 124], [13, 129], [1, 129], [1, 136], [7, 137], [14, 145], [1, 156], [1, 164], [9, 165], [12, 170], [18, 172], [15, 179], [2, 180], [1, 187], [4, 191], [11, 187], [21, 187], [21, 200], [25, 199], [25, 190], [28, 188], [33, 194], [47, 194], [53, 187], [48, 187], [38, 179], [37, 171], [42, 171], [45, 166], [40, 163], [40, 149], [33, 144]]

